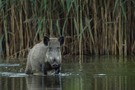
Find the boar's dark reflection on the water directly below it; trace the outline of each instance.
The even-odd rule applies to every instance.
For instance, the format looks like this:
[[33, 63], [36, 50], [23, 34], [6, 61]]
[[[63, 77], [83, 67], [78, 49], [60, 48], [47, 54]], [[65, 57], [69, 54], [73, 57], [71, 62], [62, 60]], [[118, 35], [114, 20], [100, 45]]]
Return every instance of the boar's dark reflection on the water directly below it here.
[[62, 90], [60, 76], [26, 77], [27, 90]]

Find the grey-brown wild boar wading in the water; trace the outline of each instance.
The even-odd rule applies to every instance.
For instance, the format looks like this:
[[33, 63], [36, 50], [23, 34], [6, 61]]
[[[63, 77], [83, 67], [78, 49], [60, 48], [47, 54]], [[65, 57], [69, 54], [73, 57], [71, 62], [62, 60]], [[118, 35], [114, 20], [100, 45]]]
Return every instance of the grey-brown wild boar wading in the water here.
[[61, 50], [60, 46], [64, 43], [64, 37], [48, 38], [36, 44], [29, 52], [26, 74], [35, 72], [47, 74], [47, 71], [54, 69], [55, 74], [60, 72]]

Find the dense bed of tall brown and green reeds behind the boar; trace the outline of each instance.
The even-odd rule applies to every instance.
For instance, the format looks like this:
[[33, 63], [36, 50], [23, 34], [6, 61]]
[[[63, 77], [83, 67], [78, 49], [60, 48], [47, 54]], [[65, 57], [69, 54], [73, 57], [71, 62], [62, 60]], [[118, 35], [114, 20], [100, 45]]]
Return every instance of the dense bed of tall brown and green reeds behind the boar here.
[[64, 55], [135, 54], [134, 0], [0, 0], [0, 55], [25, 57], [44, 35]]

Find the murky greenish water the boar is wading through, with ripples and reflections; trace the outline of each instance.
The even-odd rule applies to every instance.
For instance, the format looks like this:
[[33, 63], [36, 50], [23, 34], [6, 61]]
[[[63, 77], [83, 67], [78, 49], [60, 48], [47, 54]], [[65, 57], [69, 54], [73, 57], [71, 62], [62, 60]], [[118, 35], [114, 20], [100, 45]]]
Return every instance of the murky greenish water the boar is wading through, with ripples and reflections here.
[[[80, 63], [81, 62], [81, 63]], [[134, 90], [135, 58], [66, 57], [59, 75], [26, 75], [25, 59], [0, 60], [0, 90]]]

